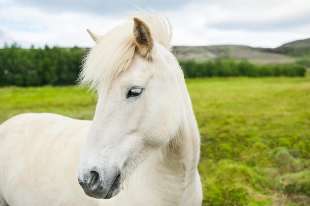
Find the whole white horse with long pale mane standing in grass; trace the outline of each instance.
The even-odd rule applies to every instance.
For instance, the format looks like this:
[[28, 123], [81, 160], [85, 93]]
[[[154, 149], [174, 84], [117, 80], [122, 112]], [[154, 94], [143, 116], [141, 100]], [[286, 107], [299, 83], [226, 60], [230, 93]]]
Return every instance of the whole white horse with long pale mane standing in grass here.
[[199, 131], [171, 26], [135, 16], [89, 31], [80, 80], [98, 92], [93, 121], [44, 113], [0, 125], [1, 206], [201, 206]]

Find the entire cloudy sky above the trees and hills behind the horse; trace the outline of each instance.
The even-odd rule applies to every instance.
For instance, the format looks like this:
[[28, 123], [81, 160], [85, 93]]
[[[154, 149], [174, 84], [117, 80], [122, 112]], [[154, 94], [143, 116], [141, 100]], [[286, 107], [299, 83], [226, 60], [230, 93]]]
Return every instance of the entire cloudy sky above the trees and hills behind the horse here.
[[172, 45], [277, 47], [310, 38], [310, 0], [0, 0], [0, 47], [94, 45], [125, 13], [151, 7], [174, 30]]

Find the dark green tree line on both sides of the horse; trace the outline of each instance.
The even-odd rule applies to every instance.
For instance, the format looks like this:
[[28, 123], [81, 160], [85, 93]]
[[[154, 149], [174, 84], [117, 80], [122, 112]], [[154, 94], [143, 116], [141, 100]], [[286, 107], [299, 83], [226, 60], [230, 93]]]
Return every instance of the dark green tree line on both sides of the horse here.
[[[0, 49], [0, 86], [41, 86], [74, 84], [87, 49], [73, 47], [23, 49], [13, 44]], [[216, 59], [180, 61], [186, 78], [229, 76], [305, 76], [298, 65], [254, 65], [248, 61]]]

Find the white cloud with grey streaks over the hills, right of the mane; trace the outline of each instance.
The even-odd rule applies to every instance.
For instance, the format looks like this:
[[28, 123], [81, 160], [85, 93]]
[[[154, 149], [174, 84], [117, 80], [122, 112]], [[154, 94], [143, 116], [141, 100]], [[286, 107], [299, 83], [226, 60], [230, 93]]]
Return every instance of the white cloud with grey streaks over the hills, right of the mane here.
[[165, 15], [175, 30], [174, 45], [276, 47], [310, 38], [308, 0], [210, 0]]

